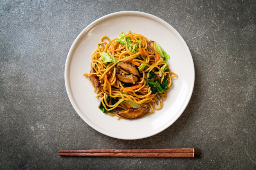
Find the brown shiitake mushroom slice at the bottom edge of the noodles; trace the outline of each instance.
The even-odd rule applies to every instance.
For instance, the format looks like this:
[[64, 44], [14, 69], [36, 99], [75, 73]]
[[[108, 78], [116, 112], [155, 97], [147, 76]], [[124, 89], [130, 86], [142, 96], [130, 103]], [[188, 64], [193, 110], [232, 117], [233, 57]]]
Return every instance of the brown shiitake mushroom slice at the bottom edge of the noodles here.
[[136, 119], [146, 115], [149, 111], [149, 107], [139, 109], [125, 109], [117, 112], [118, 115], [123, 116], [127, 119]]

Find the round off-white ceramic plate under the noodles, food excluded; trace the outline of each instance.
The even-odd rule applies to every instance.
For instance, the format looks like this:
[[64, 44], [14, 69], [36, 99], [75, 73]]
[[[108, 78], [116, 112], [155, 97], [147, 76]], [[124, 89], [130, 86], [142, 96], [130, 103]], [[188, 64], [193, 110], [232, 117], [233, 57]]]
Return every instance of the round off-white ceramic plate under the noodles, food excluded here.
[[[91, 54], [103, 35], [114, 39], [129, 30], [159, 43], [170, 55], [168, 64], [178, 77], [161, 110], [135, 120], [117, 120], [100, 111], [100, 99], [83, 74], [90, 72]], [[92, 22], [75, 39], [65, 64], [67, 94], [76, 112], [93, 129], [118, 139], [150, 137], [173, 124], [189, 103], [194, 81], [193, 59], [181, 35], [164, 20], [137, 11], [111, 13]]]

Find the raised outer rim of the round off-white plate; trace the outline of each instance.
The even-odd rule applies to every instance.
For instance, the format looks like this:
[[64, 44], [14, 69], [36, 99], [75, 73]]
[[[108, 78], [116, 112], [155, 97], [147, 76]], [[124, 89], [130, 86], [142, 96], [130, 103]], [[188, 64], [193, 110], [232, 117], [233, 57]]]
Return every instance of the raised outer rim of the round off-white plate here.
[[[135, 137], [135, 138], [132, 138], [132, 137], [116, 137], [115, 135], [110, 135], [110, 134], [107, 134], [107, 133], [105, 133], [103, 131], [100, 131], [100, 128], [98, 129], [97, 126], [94, 126], [93, 123], [91, 124], [90, 120], [87, 120], [85, 117], [82, 116], [82, 113], [80, 113], [79, 108], [78, 108], [78, 106], [77, 106], [77, 104], [76, 104], [76, 102], [74, 100], [74, 96], [72, 95], [72, 89], [71, 89], [70, 83], [68, 81], [68, 77], [69, 77], [68, 76], [68, 72], [70, 70], [69, 65], [70, 65], [70, 61], [72, 59], [72, 53], [74, 52], [79, 39], [81, 39], [81, 37], [86, 33], [87, 30], [90, 30], [90, 28], [92, 26], [96, 25], [101, 20], [104, 20], [104, 19], [106, 19], [108, 17], [112, 17], [112, 16], [115, 16], [115, 15], [118, 16], [118, 15], [125, 15], [125, 14], [140, 15], [140, 16], [143, 16], [143, 17], [147, 17], [147, 18], [156, 20], [157, 22], [160, 22], [161, 24], [164, 24], [164, 25], [168, 26], [169, 28], [171, 28], [171, 30], [175, 32], [175, 35], [178, 36], [180, 40], [182, 40], [181, 41], [182, 45], [186, 47], [186, 52], [190, 55], [189, 59], [191, 59], [191, 61], [192, 61], [191, 63], [193, 65], [193, 82], [192, 82], [190, 91], [188, 92], [188, 94], [189, 94], [188, 98], [184, 101], [185, 104], [183, 105], [183, 108], [181, 109], [180, 113], [177, 114], [177, 116], [172, 121], [170, 121], [166, 126], [164, 126], [161, 129], [155, 131], [151, 135], [146, 135], [146, 136], [142, 136], [142, 137]], [[92, 127], [92, 129], [98, 131], [99, 133], [102, 133], [104, 135], [107, 135], [107, 136], [110, 136], [110, 137], [113, 137], [113, 138], [116, 138], [116, 139], [135, 140], [135, 139], [144, 139], [144, 138], [156, 135], [156, 134], [164, 131], [168, 127], [170, 127], [174, 122], [176, 122], [176, 120], [178, 118], [180, 118], [180, 116], [182, 115], [182, 113], [184, 112], [186, 107], [188, 106], [189, 101], [190, 101], [191, 96], [192, 96], [192, 93], [193, 93], [193, 89], [194, 89], [194, 85], [195, 85], [195, 66], [194, 66], [194, 62], [193, 62], [193, 57], [191, 55], [191, 52], [189, 50], [188, 45], [186, 44], [186, 41], [183, 39], [183, 37], [180, 35], [180, 33], [175, 28], [173, 28], [173, 26], [171, 26], [171, 24], [169, 24], [168, 22], [164, 21], [163, 19], [161, 19], [161, 18], [159, 18], [159, 17], [157, 17], [155, 15], [149, 14], [149, 13], [145, 13], [145, 12], [141, 12], [141, 11], [119, 11], [119, 12], [114, 12], [114, 13], [110, 13], [108, 15], [104, 15], [102, 17], [99, 17], [97, 20], [94, 20], [88, 26], [86, 26], [83, 29], [83, 31], [81, 31], [81, 33], [79, 33], [79, 35], [76, 37], [76, 39], [72, 43], [72, 46], [70, 47], [70, 50], [69, 50], [69, 52], [67, 54], [67, 59], [66, 59], [66, 62], [65, 62], [64, 78], [65, 78], [65, 88], [66, 88], [66, 91], [67, 91], [67, 96], [68, 96], [68, 98], [69, 98], [69, 100], [70, 100], [70, 102], [72, 104], [72, 107], [74, 108], [76, 113], [80, 116], [80, 118], [82, 118], [82, 120], [86, 124], [88, 124], [90, 127]]]

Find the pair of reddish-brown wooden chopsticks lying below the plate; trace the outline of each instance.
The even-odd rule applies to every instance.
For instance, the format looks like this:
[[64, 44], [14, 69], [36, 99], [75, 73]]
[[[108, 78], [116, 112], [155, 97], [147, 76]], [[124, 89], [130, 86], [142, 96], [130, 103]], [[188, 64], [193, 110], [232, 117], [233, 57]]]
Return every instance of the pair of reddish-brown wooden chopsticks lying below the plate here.
[[59, 150], [60, 156], [87, 157], [199, 157], [199, 148]]

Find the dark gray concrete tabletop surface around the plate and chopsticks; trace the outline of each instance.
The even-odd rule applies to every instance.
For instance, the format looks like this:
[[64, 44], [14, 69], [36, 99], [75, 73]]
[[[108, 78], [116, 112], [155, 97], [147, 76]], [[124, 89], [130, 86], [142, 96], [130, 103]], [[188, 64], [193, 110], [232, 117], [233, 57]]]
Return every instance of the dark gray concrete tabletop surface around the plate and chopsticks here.
[[[255, 169], [256, 2], [0, 2], [0, 169]], [[195, 64], [182, 116], [146, 139], [121, 140], [88, 126], [64, 83], [67, 53], [97, 18], [143, 11], [171, 24]], [[201, 148], [196, 159], [60, 157], [61, 149]]]

